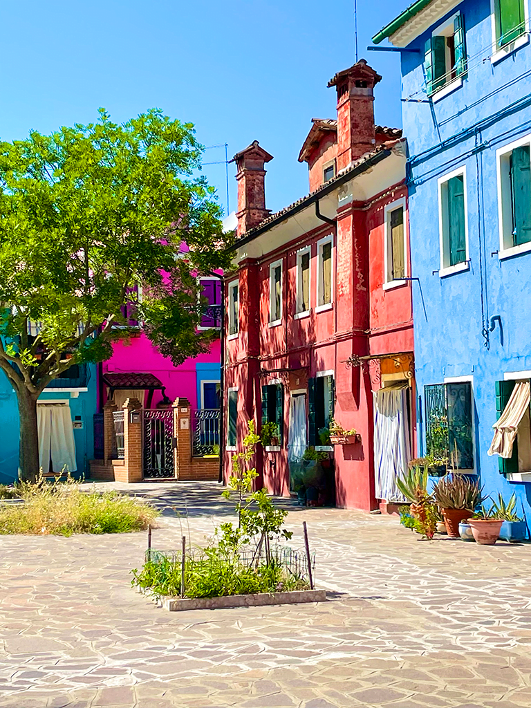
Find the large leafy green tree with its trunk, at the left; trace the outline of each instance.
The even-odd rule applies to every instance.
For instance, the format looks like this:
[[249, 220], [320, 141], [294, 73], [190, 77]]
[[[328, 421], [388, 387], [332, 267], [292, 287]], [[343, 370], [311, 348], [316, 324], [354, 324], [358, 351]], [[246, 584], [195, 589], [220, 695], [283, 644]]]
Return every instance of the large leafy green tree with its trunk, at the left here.
[[0, 143], [0, 369], [18, 399], [22, 479], [39, 469], [38, 396], [72, 365], [110, 357], [124, 305], [175, 364], [212, 337], [195, 329], [195, 273], [227, 263], [222, 211], [194, 176], [193, 125], [99, 113]]

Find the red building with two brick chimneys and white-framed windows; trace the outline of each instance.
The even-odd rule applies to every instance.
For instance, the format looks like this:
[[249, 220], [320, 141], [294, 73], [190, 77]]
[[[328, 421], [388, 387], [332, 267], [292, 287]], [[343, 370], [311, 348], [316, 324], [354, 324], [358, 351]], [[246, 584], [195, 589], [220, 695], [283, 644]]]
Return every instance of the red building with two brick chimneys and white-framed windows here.
[[[310, 193], [279, 212], [265, 208], [273, 157], [258, 141], [234, 156], [237, 268], [225, 279], [227, 473], [247, 421], [273, 423], [259, 481], [288, 495], [310, 447], [329, 458], [316, 503], [365, 510], [397, 499], [416, 445], [406, 144], [375, 125], [380, 79], [363, 59], [331, 79], [337, 120], [313, 119], [299, 155]], [[332, 418], [360, 438], [330, 445]]]

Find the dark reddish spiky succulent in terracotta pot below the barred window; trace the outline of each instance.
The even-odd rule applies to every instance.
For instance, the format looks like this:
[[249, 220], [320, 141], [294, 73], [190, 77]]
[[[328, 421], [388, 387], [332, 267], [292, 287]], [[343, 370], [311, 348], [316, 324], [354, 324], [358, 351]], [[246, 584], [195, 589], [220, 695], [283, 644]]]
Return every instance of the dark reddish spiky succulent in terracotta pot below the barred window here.
[[474, 515], [474, 509], [481, 504], [479, 482], [455, 472], [445, 474], [435, 484], [433, 496], [442, 511], [448, 535], [459, 538], [459, 522]]

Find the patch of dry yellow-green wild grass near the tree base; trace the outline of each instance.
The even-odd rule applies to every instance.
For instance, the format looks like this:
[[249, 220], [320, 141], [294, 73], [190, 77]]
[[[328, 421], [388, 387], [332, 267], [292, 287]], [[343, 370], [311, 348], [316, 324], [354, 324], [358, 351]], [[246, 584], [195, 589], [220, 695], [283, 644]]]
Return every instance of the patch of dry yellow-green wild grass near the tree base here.
[[116, 491], [84, 491], [72, 478], [40, 478], [15, 489], [21, 504], [0, 506], [0, 534], [72, 536], [142, 531], [159, 515], [149, 503]]

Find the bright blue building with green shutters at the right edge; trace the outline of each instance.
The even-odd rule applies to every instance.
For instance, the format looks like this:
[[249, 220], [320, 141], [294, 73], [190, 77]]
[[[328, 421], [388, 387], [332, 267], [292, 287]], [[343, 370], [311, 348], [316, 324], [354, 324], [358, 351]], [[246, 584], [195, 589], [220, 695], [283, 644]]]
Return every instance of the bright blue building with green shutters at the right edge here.
[[[529, 12], [418, 0], [373, 41], [401, 55], [419, 452], [515, 492], [531, 523]], [[504, 409], [507, 459], [487, 454]]]

